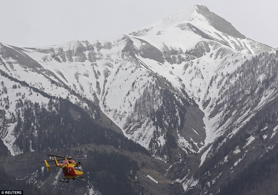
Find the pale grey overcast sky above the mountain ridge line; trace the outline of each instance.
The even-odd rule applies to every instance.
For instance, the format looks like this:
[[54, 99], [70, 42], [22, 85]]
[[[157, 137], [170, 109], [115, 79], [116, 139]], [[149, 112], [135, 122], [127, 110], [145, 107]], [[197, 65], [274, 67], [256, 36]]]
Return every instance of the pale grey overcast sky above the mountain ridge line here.
[[277, 0], [0, 0], [0, 42], [17, 47], [126, 34], [196, 3], [246, 37], [278, 47]]

